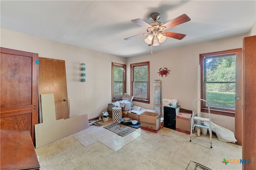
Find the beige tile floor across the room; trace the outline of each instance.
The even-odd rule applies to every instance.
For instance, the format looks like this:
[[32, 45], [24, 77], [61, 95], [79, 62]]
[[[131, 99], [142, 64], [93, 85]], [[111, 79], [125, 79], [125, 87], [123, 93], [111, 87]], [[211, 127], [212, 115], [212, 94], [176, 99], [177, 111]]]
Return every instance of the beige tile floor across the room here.
[[[104, 125], [111, 123], [109, 121]], [[185, 170], [190, 160], [212, 170], [242, 170], [241, 164], [222, 163], [223, 158], [242, 159], [242, 147], [222, 142], [214, 133], [212, 148], [208, 142], [201, 140], [192, 139], [189, 142], [189, 134], [165, 127], [157, 133], [138, 128], [132, 132], [134, 134], [129, 134], [136, 137], [124, 144], [122, 138], [126, 136], [117, 137], [114, 132], [103, 128], [104, 125], [92, 125], [36, 148], [40, 170]], [[200, 138], [208, 139], [208, 135], [201, 135]], [[78, 142], [78, 136], [85, 141], [85, 146]], [[112, 148], [100, 142], [105, 137], [109, 143], [114, 143], [110, 146]], [[90, 144], [86, 144], [86, 139]]]

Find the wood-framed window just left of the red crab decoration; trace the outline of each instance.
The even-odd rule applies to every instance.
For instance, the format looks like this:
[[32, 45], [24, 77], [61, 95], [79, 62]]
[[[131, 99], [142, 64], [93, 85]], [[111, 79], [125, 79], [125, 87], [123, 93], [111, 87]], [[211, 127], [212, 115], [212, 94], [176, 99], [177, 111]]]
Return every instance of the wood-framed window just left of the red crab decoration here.
[[149, 61], [131, 64], [131, 95], [133, 101], [149, 103]]

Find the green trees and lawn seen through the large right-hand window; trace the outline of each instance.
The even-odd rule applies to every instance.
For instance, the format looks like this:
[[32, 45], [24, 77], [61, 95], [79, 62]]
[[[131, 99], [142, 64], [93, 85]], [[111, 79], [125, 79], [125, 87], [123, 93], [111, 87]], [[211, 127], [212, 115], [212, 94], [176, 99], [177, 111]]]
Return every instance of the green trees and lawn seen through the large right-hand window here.
[[205, 57], [206, 101], [212, 108], [235, 109], [236, 56]]

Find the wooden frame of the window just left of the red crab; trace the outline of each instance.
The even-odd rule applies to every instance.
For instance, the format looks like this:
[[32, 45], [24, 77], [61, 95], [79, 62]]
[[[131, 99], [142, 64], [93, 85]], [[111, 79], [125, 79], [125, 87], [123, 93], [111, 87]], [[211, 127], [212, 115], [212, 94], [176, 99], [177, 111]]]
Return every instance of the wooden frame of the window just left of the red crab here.
[[149, 64], [149, 61], [146, 61], [146, 62], [141, 62], [141, 63], [133, 63], [130, 65], [130, 70], [131, 70], [131, 79], [130, 79], [130, 82], [131, 82], [131, 95], [134, 96], [133, 94], [133, 79], [134, 79], [134, 73], [133, 73], [133, 68], [136, 67], [136, 66], [143, 66], [143, 65], [146, 65], [148, 67], [148, 81], [147, 81], [147, 94], [148, 94], [148, 97], [147, 99], [138, 99], [136, 97], [133, 98], [132, 101], [138, 101], [138, 102], [142, 102], [142, 103], [150, 103], [150, 64]]

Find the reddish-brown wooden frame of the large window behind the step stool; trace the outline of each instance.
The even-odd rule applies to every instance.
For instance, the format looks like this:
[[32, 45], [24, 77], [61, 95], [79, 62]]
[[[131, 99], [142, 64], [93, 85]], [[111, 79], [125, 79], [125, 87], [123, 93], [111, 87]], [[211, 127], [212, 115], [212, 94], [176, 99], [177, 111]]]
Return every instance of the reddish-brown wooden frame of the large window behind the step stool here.
[[[229, 49], [224, 51], [202, 53], [199, 55], [199, 64], [201, 66], [201, 99], [206, 99], [206, 89], [205, 89], [205, 83], [204, 83], [204, 71], [205, 71], [204, 57], [221, 57], [226, 55], [236, 55], [236, 53], [241, 53], [241, 52], [242, 52], [242, 48], [237, 48], [237, 49]], [[206, 107], [205, 105], [206, 103], [201, 101], [201, 112], [208, 113], [208, 107]], [[225, 115], [230, 117], [235, 116], [235, 110], [231, 110], [231, 109], [213, 108], [213, 109], [210, 109], [210, 112], [216, 115]]]

